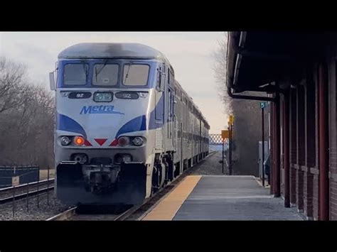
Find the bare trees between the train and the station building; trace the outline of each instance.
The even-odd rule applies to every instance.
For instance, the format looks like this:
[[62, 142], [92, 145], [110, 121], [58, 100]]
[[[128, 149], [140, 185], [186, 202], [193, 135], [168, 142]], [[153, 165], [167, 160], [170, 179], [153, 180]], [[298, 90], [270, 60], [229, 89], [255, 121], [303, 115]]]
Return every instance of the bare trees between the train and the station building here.
[[[228, 33], [218, 42], [218, 50], [213, 53], [215, 80], [218, 84], [218, 94], [224, 104], [226, 114], [234, 114], [233, 127], [233, 173], [237, 175], [258, 175], [258, 142], [260, 141], [260, 106], [257, 101], [232, 99], [228, 97], [227, 51]], [[243, 94], [249, 95], [250, 92]]]

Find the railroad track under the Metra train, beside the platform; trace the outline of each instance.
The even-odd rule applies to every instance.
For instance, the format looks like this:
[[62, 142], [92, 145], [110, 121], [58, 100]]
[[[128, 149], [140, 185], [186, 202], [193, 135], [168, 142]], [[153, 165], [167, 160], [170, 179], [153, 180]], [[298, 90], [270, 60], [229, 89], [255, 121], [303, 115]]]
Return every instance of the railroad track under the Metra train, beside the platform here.
[[[208, 156], [206, 156], [203, 160], [205, 160], [206, 158], [209, 158], [214, 153], [215, 153], [215, 151], [210, 152], [208, 154]], [[202, 163], [202, 162], [200, 162], [200, 163]], [[196, 165], [198, 165], [200, 163], [197, 163]], [[194, 166], [195, 165], [191, 166], [191, 168], [193, 168]], [[191, 168], [188, 168], [188, 170], [191, 171]], [[152, 207], [154, 207], [154, 205], [156, 203], [158, 203], [160, 201], [160, 199], [162, 199], [164, 197], [164, 195], [167, 195], [169, 192], [171, 192], [171, 190], [173, 190], [173, 188], [176, 187], [176, 185], [178, 185], [178, 183], [181, 182], [181, 180], [183, 180], [184, 177], [191, 174], [192, 171], [188, 172], [188, 170], [183, 172], [179, 177], [176, 177], [174, 180], [169, 182], [165, 187], [158, 190], [156, 193], [154, 193], [154, 195], [152, 195], [151, 197], [146, 199], [143, 202], [143, 204], [133, 206], [133, 207], [129, 207], [127, 210], [125, 210], [124, 212], [122, 212], [120, 214], [78, 214], [78, 212], [79, 212], [78, 210], [79, 210], [80, 207], [73, 207], [71, 209], [68, 209], [65, 212], [57, 214], [54, 217], [51, 217], [51, 218], [46, 219], [46, 220], [47, 221], [65, 221], [65, 220], [70, 220], [70, 221], [76, 221], [76, 220], [80, 220], [80, 221], [84, 221], [84, 220], [124, 221], [124, 220], [128, 219], [129, 217], [131, 217], [133, 214], [135, 214], [137, 211], [139, 211], [139, 209], [141, 209], [141, 208], [145, 208], [145, 210], [143, 209], [142, 210], [143, 212], [141, 214], [138, 214], [138, 215], [144, 216], [144, 215], [146, 215], [146, 213], [149, 210], [152, 209]], [[156, 199], [156, 197], [158, 199]], [[136, 219], [139, 220], [141, 218], [138, 217]]]

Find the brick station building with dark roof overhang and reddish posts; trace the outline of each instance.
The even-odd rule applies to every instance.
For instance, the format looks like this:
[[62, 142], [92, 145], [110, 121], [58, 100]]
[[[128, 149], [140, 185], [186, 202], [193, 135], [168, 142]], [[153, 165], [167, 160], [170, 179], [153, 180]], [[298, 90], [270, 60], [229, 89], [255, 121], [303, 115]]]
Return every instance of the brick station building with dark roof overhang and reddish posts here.
[[270, 104], [270, 193], [315, 220], [337, 220], [336, 35], [228, 34], [228, 94]]

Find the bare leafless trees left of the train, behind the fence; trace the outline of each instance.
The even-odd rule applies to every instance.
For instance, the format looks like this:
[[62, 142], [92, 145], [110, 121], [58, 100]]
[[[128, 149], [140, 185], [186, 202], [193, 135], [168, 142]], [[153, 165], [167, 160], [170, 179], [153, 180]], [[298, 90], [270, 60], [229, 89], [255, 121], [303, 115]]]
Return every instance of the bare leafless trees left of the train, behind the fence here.
[[0, 165], [53, 165], [54, 106], [24, 65], [0, 59]]

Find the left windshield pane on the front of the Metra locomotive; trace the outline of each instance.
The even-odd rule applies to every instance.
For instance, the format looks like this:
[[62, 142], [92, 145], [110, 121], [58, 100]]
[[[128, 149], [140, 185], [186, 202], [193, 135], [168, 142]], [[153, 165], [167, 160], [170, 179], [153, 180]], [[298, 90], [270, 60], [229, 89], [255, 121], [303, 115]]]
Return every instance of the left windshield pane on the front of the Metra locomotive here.
[[67, 64], [64, 67], [63, 82], [65, 85], [85, 85], [87, 84], [87, 74], [89, 66], [87, 64]]

